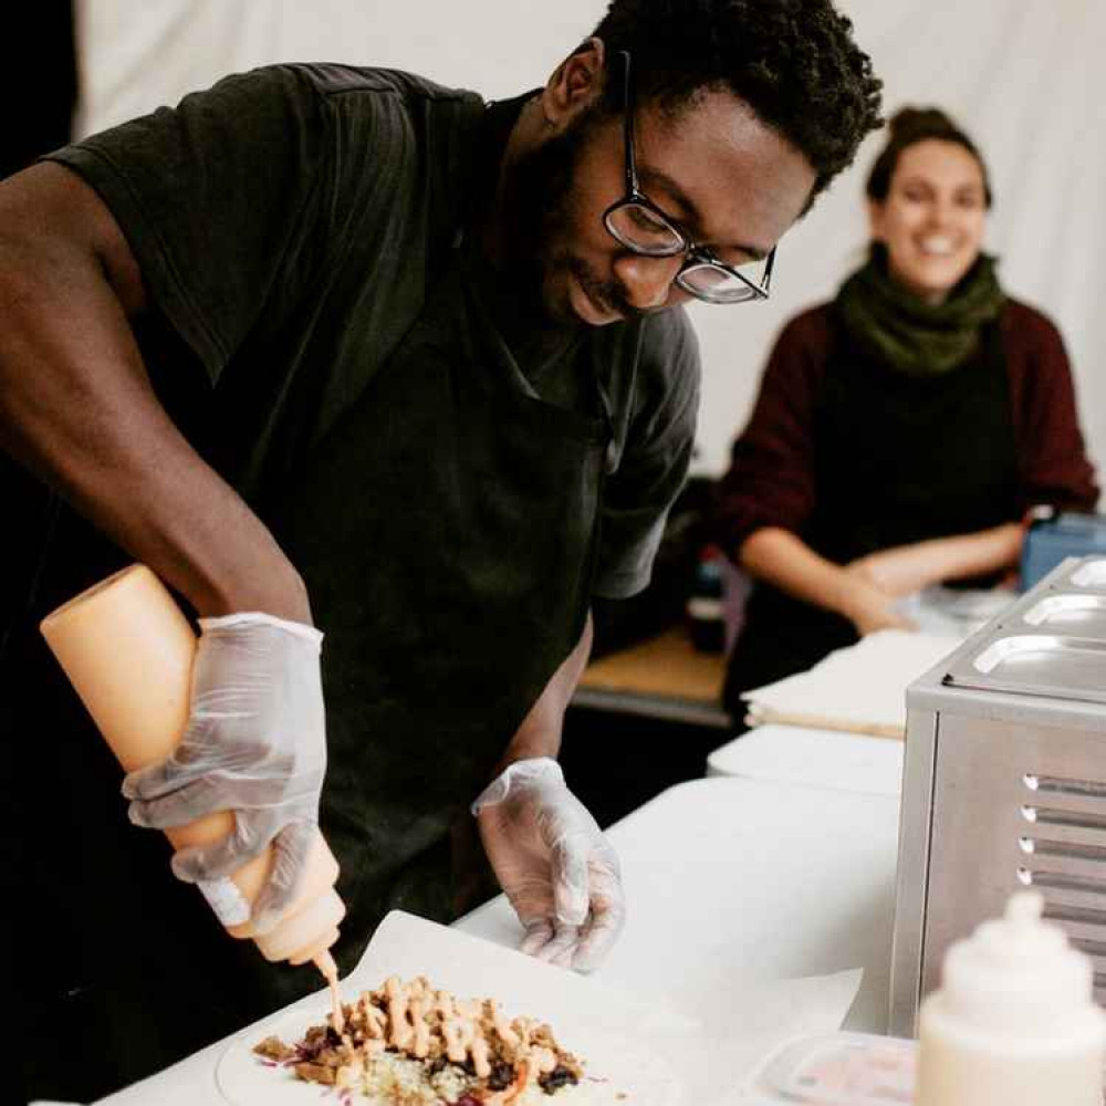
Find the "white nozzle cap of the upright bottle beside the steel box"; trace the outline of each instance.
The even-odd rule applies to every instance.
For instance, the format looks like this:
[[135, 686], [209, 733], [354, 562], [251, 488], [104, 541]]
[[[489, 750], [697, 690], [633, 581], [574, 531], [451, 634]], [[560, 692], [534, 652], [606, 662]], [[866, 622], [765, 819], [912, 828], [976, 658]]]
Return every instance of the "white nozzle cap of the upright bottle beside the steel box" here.
[[1044, 899], [1020, 891], [1002, 918], [984, 921], [945, 958], [946, 1009], [983, 1030], [1048, 1037], [1097, 1015], [1093, 969], [1058, 927], [1042, 920]]

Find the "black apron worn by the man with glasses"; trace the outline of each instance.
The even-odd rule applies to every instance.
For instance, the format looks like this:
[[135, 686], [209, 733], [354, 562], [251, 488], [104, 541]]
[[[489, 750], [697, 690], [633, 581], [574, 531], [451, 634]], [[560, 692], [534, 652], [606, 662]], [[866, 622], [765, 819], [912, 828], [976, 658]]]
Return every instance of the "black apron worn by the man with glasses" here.
[[611, 440], [598, 380], [593, 410], [539, 398], [477, 264], [453, 250], [270, 512], [326, 634], [322, 827], [342, 865], [346, 968], [387, 909], [452, 915], [450, 827], [471, 821], [587, 613]]

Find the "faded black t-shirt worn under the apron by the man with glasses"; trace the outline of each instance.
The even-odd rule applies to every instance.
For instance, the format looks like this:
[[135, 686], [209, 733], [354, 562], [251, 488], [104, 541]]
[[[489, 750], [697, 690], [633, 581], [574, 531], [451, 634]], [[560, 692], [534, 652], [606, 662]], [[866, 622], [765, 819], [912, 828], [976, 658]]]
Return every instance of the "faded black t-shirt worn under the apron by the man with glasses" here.
[[[138, 260], [155, 307], [143, 352], [169, 414], [262, 517], [267, 486], [417, 317], [487, 168], [482, 115], [476, 94], [405, 73], [280, 65], [51, 155], [97, 190]], [[504, 330], [525, 333], [502, 307]], [[686, 476], [698, 352], [681, 311], [583, 341], [586, 358], [547, 333], [515, 353], [568, 403], [580, 366], [604, 366], [616, 441], [594, 591], [620, 597], [648, 582]]]

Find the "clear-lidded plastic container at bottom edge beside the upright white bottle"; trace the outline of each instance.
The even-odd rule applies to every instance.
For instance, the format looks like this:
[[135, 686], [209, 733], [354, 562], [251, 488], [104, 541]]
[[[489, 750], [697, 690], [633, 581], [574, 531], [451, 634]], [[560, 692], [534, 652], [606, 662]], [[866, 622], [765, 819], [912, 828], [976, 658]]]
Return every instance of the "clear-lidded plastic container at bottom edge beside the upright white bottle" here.
[[904, 1106], [914, 1099], [917, 1042], [825, 1033], [784, 1045], [760, 1066], [745, 1106]]

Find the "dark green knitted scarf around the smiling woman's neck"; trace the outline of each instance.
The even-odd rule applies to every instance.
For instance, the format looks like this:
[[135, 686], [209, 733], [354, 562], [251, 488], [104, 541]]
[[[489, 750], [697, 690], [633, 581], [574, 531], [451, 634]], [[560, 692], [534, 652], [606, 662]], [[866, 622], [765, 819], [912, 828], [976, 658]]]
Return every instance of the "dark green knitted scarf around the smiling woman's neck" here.
[[851, 336], [876, 361], [910, 376], [936, 376], [962, 365], [980, 327], [1002, 310], [994, 265], [981, 253], [948, 299], [931, 304], [891, 279], [886, 247], [874, 242], [867, 263], [842, 284], [837, 306]]

